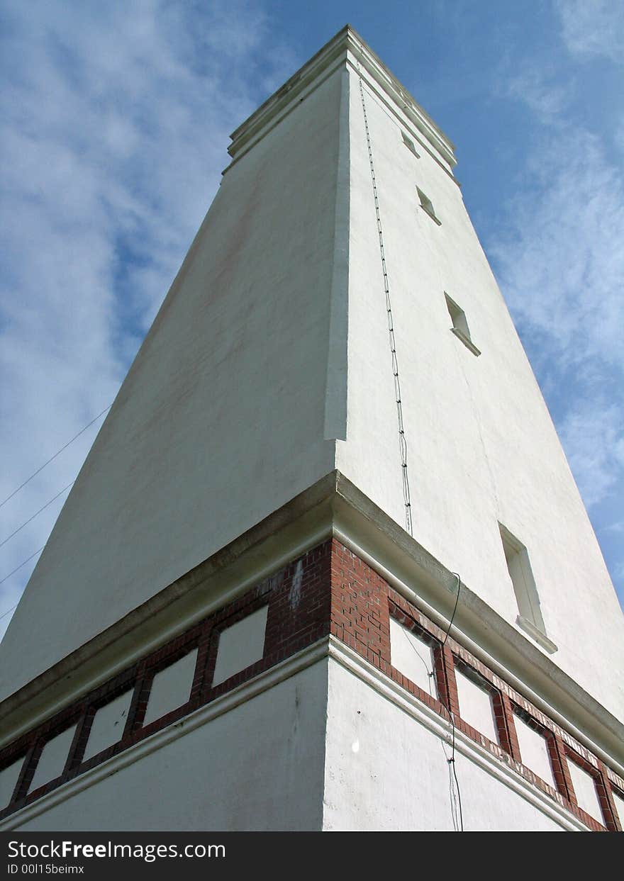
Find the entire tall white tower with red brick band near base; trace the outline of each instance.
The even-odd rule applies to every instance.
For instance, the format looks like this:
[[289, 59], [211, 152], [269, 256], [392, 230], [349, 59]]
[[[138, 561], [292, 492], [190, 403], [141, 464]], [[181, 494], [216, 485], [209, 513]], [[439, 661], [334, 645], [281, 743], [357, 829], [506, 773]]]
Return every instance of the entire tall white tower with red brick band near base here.
[[618, 830], [624, 618], [349, 26], [231, 163], [0, 647], [0, 828]]

